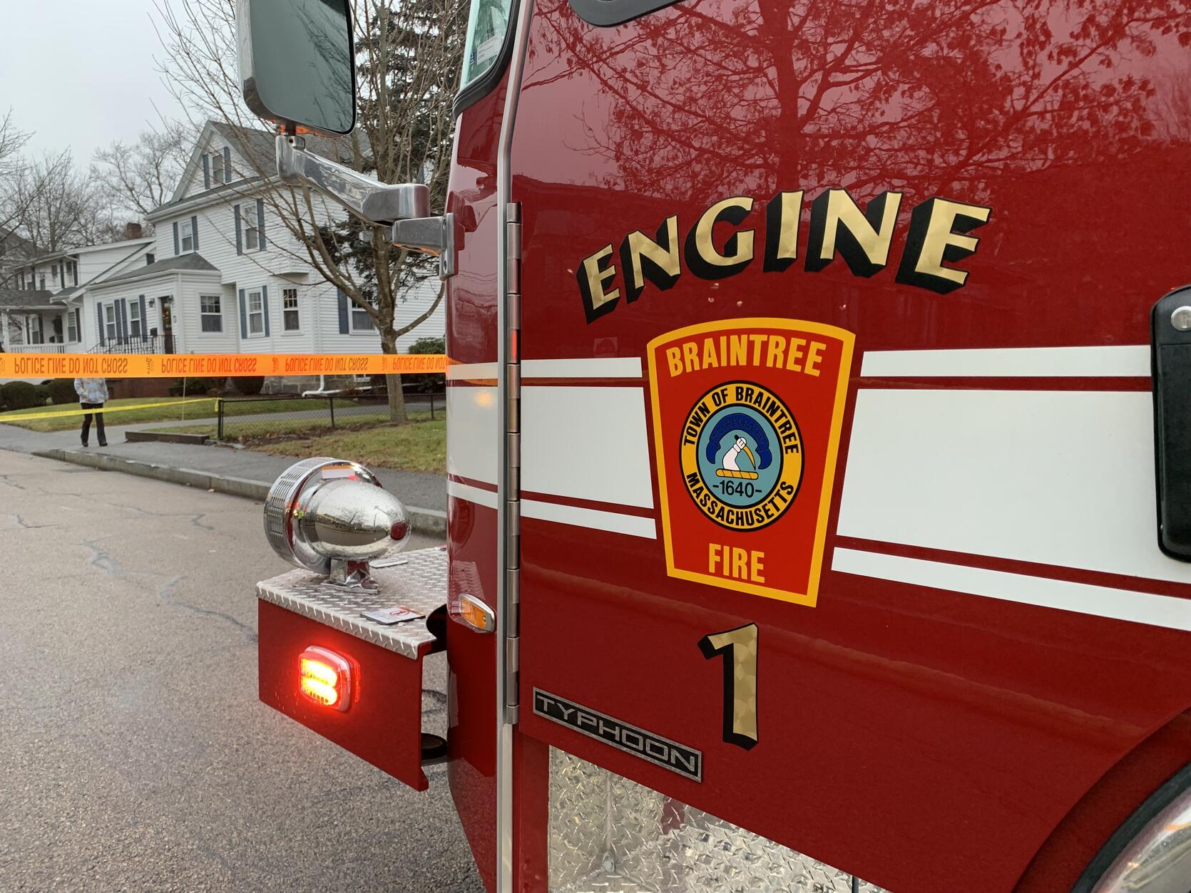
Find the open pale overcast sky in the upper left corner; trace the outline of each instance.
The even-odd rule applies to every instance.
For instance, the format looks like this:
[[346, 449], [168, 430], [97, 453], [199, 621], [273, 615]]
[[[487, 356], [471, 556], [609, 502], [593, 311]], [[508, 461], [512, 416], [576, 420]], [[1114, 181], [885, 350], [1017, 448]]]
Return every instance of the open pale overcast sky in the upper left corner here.
[[[152, 0], [0, 0], [0, 113], [36, 131], [26, 149], [74, 150], [82, 166], [179, 108], [161, 82]], [[154, 106], [158, 111], [155, 111]]]

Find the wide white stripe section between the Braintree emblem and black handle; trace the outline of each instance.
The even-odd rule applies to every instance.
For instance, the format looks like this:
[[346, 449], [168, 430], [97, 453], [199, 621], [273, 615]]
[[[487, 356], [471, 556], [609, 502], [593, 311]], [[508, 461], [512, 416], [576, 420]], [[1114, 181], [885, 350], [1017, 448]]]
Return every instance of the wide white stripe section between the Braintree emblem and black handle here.
[[1154, 514], [1148, 393], [856, 395], [841, 536], [1191, 583]]

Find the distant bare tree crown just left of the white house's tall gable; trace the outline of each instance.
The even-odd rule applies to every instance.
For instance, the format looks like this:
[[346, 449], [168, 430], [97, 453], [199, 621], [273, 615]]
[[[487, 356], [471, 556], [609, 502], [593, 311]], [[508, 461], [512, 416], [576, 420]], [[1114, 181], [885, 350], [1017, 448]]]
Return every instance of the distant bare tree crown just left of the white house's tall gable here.
[[164, 120], [161, 129], [146, 130], [132, 143], [116, 140], [99, 149], [91, 163], [92, 179], [111, 207], [144, 220], [173, 194], [194, 138], [188, 124]]

